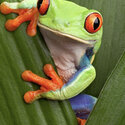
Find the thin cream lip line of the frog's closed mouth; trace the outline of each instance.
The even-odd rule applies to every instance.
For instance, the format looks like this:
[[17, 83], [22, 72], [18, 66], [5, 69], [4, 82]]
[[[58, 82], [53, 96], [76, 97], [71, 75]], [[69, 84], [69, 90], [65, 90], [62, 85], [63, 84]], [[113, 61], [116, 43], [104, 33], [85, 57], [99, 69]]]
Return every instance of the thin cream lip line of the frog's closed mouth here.
[[59, 35], [59, 36], [62, 36], [62, 37], [68, 37], [68, 38], [70, 38], [72, 40], [75, 40], [75, 41], [78, 41], [78, 42], [81, 42], [81, 43], [84, 43], [84, 44], [93, 45], [96, 42], [96, 40], [88, 40], [87, 41], [87, 40], [83, 40], [81, 38], [75, 37], [73, 35], [70, 35], [70, 34], [67, 34], [67, 33], [63, 33], [63, 32], [58, 31], [58, 30], [51, 29], [51, 28], [49, 28], [49, 27], [47, 27], [45, 25], [40, 24], [39, 22], [38, 22], [38, 26], [40, 28], [42, 28], [42, 29], [48, 30], [50, 32], [53, 32], [56, 35]]

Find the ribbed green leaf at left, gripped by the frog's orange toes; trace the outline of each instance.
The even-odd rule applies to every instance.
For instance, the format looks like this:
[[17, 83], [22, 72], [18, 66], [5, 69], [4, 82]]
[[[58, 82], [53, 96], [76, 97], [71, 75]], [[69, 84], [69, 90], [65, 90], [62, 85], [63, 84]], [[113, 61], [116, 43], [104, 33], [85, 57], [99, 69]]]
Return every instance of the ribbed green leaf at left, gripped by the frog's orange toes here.
[[33, 38], [26, 34], [26, 23], [14, 32], [6, 31], [5, 21], [14, 17], [0, 14], [0, 125], [77, 125], [68, 101], [24, 102], [24, 93], [39, 87], [23, 81], [21, 73], [29, 69], [45, 77], [42, 67], [53, 61], [39, 30]]

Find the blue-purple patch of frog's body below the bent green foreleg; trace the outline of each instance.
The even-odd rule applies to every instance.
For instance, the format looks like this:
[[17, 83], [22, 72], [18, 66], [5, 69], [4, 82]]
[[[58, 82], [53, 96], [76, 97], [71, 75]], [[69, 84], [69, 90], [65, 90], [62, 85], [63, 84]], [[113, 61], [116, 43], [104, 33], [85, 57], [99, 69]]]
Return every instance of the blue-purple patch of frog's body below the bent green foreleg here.
[[97, 99], [90, 95], [79, 94], [69, 99], [69, 101], [76, 116], [81, 119], [87, 119]]

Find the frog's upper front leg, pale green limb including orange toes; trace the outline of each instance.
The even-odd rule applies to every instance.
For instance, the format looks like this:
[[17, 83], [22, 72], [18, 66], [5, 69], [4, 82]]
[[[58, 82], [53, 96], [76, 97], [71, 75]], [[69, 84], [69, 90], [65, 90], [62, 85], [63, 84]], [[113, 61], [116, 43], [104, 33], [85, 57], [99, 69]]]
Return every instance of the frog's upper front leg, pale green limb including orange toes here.
[[36, 34], [37, 32], [36, 26], [37, 26], [37, 20], [39, 17], [39, 12], [38, 12], [38, 9], [36, 8], [37, 0], [33, 0], [33, 1], [31, 2], [31, 1], [25, 0], [20, 3], [19, 2], [15, 2], [15, 3], [3, 2], [0, 5], [0, 11], [3, 14], [9, 14], [9, 13], [19, 14], [17, 18], [10, 19], [5, 23], [5, 27], [8, 31], [14, 31], [23, 22], [30, 21], [30, 24], [27, 27], [27, 34], [29, 36], [34, 36]]

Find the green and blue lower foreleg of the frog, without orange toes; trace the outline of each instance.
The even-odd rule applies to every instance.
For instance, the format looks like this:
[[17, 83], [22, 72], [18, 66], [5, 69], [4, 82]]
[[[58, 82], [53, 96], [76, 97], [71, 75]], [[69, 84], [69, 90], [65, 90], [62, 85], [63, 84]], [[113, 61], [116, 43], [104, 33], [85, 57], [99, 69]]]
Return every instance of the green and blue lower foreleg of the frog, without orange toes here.
[[95, 79], [95, 76], [95, 68], [91, 64], [86, 65], [79, 69], [74, 76], [62, 86], [61, 89], [57, 89], [56, 91], [47, 91], [42, 93], [40, 96], [41, 98], [52, 100], [70, 99], [88, 87]]

